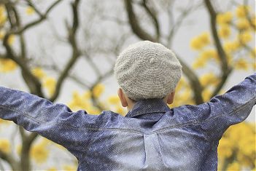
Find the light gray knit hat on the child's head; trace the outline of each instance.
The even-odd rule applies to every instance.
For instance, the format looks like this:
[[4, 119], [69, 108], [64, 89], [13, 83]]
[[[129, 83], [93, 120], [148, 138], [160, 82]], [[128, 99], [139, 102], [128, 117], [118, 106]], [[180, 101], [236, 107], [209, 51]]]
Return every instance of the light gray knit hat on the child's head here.
[[117, 57], [115, 77], [132, 100], [164, 98], [174, 90], [182, 75], [182, 65], [162, 44], [139, 41]]

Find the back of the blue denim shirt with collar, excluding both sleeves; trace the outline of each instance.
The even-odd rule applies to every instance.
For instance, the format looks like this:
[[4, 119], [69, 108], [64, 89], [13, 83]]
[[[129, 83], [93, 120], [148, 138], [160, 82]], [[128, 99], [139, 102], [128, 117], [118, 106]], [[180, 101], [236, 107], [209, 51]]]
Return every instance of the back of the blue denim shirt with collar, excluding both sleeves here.
[[190, 107], [170, 109], [162, 100], [144, 100], [125, 117], [104, 112], [106, 122], [86, 148], [81, 168], [215, 170], [218, 140], [190, 117], [195, 111], [184, 114], [185, 108]]

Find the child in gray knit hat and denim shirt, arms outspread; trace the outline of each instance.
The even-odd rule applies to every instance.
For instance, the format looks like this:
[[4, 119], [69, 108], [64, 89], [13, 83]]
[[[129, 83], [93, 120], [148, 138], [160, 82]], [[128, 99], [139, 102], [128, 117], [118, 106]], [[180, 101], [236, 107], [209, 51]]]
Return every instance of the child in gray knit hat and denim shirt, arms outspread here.
[[225, 130], [256, 103], [256, 74], [199, 106], [168, 108], [182, 67], [170, 49], [140, 41], [115, 65], [118, 95], [128, 114], [72, 112], [26, 92], [0, 87], [0, 118], [67, 148], [78, 170], [217, 170]]

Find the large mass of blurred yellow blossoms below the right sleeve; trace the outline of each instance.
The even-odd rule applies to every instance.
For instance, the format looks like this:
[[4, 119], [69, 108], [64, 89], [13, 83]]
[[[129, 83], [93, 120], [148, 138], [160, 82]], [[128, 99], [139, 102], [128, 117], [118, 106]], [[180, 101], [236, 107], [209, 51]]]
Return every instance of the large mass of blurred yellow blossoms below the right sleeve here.
[[239, 170], [238, 166], [251, 168], [256, 159], [255, 135], [255, 123], [243, 122], [229, 127], [218, 147], [219, 161], [222, 164], [220, 170], [223, 169], [223, 161], [231, 155], [236, 160], [230, 161], [228, 170]]

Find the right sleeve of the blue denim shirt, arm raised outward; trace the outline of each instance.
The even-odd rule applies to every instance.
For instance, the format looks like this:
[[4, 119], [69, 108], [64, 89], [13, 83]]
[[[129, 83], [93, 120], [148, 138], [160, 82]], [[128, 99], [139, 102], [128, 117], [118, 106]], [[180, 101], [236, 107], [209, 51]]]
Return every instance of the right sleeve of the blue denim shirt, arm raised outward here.
[[230, 125], [247, 119], [256, 103], [256, 73], [223, 95], [198, 106], [184, 106], [182, 111], [210, 138], [220, 139]]

